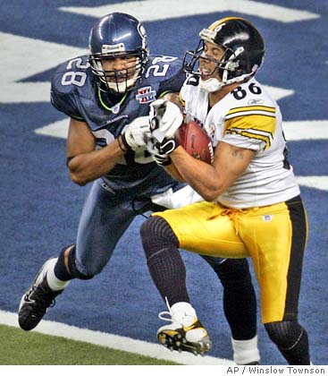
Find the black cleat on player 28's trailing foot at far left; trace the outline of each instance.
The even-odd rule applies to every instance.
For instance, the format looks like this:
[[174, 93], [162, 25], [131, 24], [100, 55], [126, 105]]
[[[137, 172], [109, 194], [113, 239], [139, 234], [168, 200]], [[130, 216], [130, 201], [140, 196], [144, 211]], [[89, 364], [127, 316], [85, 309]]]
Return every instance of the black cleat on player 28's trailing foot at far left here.
[[63, 290], [51, 290], [46, 281], [46, 270], [54, 261], [55, 259], [49, 259], [44, 263], [38, 270], [29, 290], [21, 297], [18, 311], [18, 322], [21, 329], [34, 329], [46, 314], [46, 310], [55, 305], [55, 297], [63, 292]]

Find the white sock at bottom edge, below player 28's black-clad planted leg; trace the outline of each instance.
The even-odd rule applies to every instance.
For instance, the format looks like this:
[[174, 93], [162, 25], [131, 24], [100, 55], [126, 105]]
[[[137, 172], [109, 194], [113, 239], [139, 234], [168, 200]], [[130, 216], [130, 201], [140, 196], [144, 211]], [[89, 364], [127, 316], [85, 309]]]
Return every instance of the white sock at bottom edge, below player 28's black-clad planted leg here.
[[231, 338], [233, 361], [237, 364], [248, 364], [260, 361], [260, 353], [257, 348], [257, 336], [248, 340]]

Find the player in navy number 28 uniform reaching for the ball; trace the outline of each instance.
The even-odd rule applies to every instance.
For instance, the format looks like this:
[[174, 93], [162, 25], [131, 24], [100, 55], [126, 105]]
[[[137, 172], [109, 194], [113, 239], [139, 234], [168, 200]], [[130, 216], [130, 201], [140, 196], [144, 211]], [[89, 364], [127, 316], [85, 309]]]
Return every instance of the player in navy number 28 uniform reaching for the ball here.
[[[70, 118], [67, 167], [71, 180], [93, 185], [75, 243], [45, 262], [21, 298], [19, 323], [24, 330], [38, 325], [71, 279], [90, 279], [104, 269], [138, 214], [198, 200], [189, 186], [165, 173], [165, 160], [156, 153], [150, 155], [145, 145], [149, 104], [181, 90], [185, 80], [181, 61], [149, 55], [144, 27], [124, 13], [97, 21], [89, 49], [88, 56], [72, 58], [56, 69], [51, 102]], [[248, 262], [204, 259], [223, 284], [234, 360], [257, 363], [257, 305]], [[184, 270], [181, 258], [176, 270]]]

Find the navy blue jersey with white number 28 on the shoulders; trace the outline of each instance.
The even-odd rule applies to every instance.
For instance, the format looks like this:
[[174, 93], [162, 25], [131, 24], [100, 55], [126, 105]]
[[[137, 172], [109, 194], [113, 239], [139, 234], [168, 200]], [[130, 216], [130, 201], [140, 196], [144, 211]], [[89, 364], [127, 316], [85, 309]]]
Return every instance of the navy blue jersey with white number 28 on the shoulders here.
[[[132, 120], [148, 115], [149, 104], [161, 94], [179, 92], [185, 78], [177, 57], [149, 56], [142, 79], [122, 98], [115, 98], [98, 88], [88, 56], [79, 56], [56, 69], [51, 102], [64, 114], [86, 122], [101, 148], [114, 141]], [[115, 192], [147, 196], [164, 192], [172, 184], [172, 177], [141, 148], [138, 153], [130, 150], [103, 179]]]

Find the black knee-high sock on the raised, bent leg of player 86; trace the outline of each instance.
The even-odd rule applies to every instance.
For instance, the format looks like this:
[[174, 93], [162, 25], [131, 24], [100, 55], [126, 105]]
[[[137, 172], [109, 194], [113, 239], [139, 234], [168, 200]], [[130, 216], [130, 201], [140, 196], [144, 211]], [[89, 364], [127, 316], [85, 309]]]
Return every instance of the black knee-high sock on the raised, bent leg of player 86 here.
[[155, 216], [141, 226], [140, 234], [150, 275], [162, 298], [167, 298], [170, 306], [189, 303], [186, 269], [172, 228], [164, 218]]

